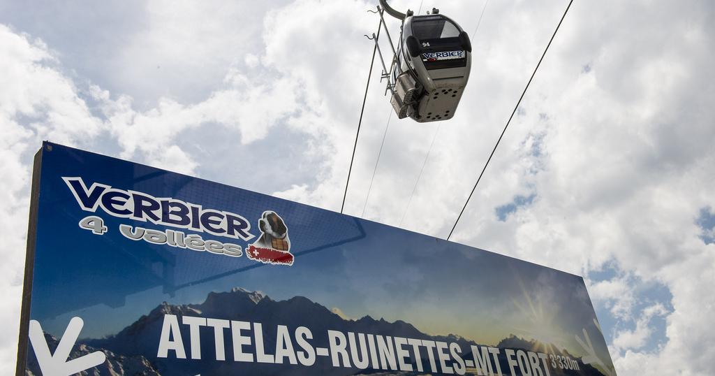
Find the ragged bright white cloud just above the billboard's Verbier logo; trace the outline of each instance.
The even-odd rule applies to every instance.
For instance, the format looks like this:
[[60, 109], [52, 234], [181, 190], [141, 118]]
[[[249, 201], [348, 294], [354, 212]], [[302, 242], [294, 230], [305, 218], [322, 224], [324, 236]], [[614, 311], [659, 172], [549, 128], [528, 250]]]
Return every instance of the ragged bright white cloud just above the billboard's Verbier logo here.
[[240, 132], [240, 140], [235, 141], [247, 145], [265, 138], [278, 122], [307, 111], [294, 94], [298, 90], [300, 82], [294, 80], [282, 78], [267, 85], [231, 69], [225, 87], [192, 105], [162, 97], [157, 107], [142, 112], [134, 109], [132, 98], [126, 95], [113, 100], [109, 92], [97, 87], [93, 93], [102, 102], [112, 136], [122, 146], [122, 158], [145, 159], [159, 167], [174, 165], [167, 161], [182, 161], [179, 172], [190, 174], [198, 163], [177, 146], [183, 132], [202, 126], [220, 132], [228, 127]]

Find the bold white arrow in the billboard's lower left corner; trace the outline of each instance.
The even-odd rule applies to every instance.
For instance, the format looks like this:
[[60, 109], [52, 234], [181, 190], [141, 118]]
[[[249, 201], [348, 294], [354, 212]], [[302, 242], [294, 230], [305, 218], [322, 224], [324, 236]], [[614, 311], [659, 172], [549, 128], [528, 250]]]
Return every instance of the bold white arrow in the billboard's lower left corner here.
[[30, 320], [30, 343], [32, 344], [32, 349], [35, 350], [35, 357], [42, 371], [42, 376], [71, 376], [89, 368], [97, 367], [107, 360], [107, 355], [104, 355], [104, 352], [101, 351], [67, 360], [72, 347], [77, 342], [77, 337], [79, 337], [82, 327], [84, 327], [82, 319], [72, 317], [69, 320], [67, 329], [62, 334], [62, 338], [59, 340], [57, 349], [54, 350], [54, 354], [50, 354], [40, 323], [36, 320]]

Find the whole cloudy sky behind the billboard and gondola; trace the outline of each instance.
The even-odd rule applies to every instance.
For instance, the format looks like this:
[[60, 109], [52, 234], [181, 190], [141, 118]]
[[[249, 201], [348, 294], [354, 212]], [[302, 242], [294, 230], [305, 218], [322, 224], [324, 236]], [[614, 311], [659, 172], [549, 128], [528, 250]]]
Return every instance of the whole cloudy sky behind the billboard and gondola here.
[[[2, 373], [41, 140], [340, 210], [376, 2], [0, 0]], [[375, 64], [345, 212], [447, 236], [566, 4], [490, 1], [448, 122], [385, 133]], [[714, 10], [575, 1], [452, 237], [583, 275], [619, 375], [712, 373]]]

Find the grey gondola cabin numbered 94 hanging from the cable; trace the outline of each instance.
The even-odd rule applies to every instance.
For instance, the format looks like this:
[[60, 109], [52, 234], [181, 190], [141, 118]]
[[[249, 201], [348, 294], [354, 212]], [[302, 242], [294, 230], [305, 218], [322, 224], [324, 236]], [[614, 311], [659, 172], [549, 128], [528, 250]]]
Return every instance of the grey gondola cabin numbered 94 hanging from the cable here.
[[468, 34], [438, 9], [425, 15], [402, 14], [385, 0], [380, 4], [388, 14], [403, 19], [388, 81], [390, 103], [398, 117], [418, 122], [452, 118], [469, 80], [472, 46]]

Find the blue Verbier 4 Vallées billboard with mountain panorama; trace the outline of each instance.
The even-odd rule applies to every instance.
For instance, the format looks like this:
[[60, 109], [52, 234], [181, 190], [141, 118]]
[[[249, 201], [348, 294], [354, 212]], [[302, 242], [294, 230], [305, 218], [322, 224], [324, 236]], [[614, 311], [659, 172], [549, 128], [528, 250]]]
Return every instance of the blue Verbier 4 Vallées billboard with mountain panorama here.
[[615, 375], [580, 276], [44, 143], [17, 375]]

